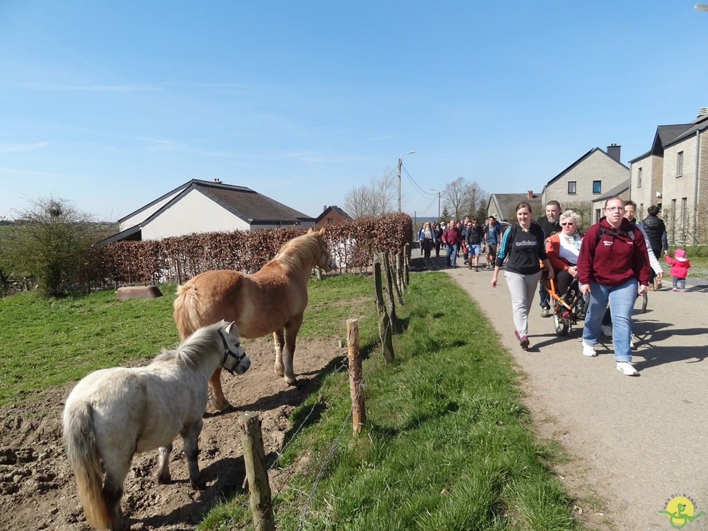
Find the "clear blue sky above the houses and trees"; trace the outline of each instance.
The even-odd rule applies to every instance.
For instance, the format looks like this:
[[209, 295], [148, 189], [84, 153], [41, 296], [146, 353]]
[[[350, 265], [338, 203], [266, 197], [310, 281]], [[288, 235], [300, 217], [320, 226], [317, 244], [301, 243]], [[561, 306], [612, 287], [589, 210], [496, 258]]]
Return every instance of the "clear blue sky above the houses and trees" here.
[[316, 217], [411, 150], [411, 215], [457, 177], [540, 191], [708, 106], [694, 4], [1, 0], [0, 218], [115, 221], [193, 178]]

